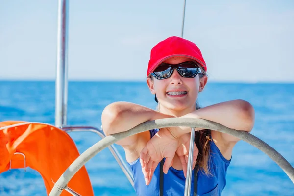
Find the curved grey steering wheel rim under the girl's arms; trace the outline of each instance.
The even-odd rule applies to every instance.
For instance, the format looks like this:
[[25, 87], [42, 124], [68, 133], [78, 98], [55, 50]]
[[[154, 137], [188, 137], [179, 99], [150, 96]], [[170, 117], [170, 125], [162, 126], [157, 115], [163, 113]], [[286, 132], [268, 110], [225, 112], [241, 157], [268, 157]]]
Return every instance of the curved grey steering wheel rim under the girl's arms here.
[[79, 157], [77, 157], [73, 163], [68, 167], [68, 169], [60, 176], [57, 182], [54, 184], [49, 196], [59, 196], [63, 189], [67, 187], [67, 183], [72, 179], [74, 174], [87, 163], [91, 158], [93, 158], [98, 152], [103, 150], [104, 148], [114, 144], [115, 142], [126, 138], [128, 136], [141, 133], [147, 130], [152, 130], [155, 128], [166, 128], [166, 127], [174, 127], [174, 126], [186, 126], [191, 128], [203, 128], [219, 131], [222, 133], [227, 133], [233, 135], [250, 145], [258, 148], [267, 154], [275, 163], [277, 163], [280, 168], [289, 176], [294, 184], [294, 168], [291, 164], [274, 148], [270, 147], [267, 143], [260, 140], [256, 136], [246, 132], [239, 131], [235, 129], [230, 129], [226, 126], [221, 125], [220, 123], [204, 120], [204, 119], [194, 119], [194, 118], [166, 118], [166, 119], [157, 119], [154, 121], [147, 121], [145, 123], [141, 123], [136, 127], [121, 133], [116, 133], [109, 135], [92, 147], [89, 147], [85, 150]]

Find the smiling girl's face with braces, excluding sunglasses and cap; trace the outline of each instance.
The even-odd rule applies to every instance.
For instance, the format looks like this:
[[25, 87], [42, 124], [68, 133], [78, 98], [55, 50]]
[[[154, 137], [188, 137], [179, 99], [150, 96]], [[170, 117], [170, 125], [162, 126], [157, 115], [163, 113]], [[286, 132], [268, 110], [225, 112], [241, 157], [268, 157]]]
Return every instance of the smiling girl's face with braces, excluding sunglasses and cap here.
[[[193, 61], [186, 57], [172, 57], [164, 63], [178, 64]], [[195, 110], [198, 92], [202, 91], [207, 82], [207, 77], [194, 78], [182, 77], [176, 69], [171, 77], [163, 80], [147, 78], [147, 85], [152, 94], [156, 94], [160, 112], [183, 116]]]

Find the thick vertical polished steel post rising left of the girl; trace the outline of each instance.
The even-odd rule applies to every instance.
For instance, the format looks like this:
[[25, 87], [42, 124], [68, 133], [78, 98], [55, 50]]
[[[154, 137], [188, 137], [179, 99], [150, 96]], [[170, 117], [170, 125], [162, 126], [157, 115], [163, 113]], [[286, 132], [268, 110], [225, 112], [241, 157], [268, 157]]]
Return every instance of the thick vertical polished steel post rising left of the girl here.
[[68, 48], [68, 0], [58, 0], [57, 65], [55, 80], [55, 126], [67, 124], [67, 48]]

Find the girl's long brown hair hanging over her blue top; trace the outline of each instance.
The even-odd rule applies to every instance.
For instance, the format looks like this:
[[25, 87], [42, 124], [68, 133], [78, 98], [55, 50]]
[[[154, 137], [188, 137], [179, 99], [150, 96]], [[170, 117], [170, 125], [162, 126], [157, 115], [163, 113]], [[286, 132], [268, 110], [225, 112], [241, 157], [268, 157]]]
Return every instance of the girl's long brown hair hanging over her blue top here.
[[[207, 76], [207, 73], [205, 70], [199, 66], [202, 73], [199, 74], [199, 77], [202, 78], [204, 75]], [[153, 77], [151, 76], [151, 79]], [[154, 97], [155, 101], [158, 103], [158, 100], [156, 98], [156, 94]], [[198, 102], [196, 101], [196, 110], [200, 109]], [[210, 158], [210, 144], [209, 141], [211, 140], [211, 130], [204, 129], [200, 131], [195, 131], [195, 139], [194, 142], [199, 150], [196, 164], [198, 165], [198, 171], [201, 170], [206, 175], [211, 175], [210, 169], [209, 169], [209, 158]]]

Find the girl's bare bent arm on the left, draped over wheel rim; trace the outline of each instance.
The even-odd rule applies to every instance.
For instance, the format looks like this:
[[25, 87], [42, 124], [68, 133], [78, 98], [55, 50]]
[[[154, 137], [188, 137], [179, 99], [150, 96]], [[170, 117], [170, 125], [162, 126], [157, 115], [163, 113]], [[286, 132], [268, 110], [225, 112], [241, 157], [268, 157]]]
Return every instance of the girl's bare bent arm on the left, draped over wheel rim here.
[[[127, 131], [138, 124], [173, 116], [130, 102], [115, 102], [102, 112], [102, 127], [106, 135]], [[140, 134], [140, 133], [139, 133]], [[139, 134], [127, 137], [117, 142], [121, 146], [132, 146], [136, 143]]]

